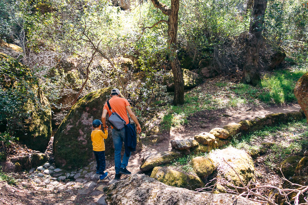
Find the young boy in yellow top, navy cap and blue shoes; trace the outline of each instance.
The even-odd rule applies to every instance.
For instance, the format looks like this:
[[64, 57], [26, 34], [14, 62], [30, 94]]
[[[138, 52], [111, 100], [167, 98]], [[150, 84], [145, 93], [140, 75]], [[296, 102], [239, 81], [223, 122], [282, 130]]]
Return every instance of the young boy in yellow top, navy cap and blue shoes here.
[[107, 139], [108, 137], [108, 127], [106, 125], [103, 132], [100, 129], [101, 126], [102, 122], [100, 120], [93, 120], [92, 127], [94, 130], [91, 132], [91, 140], [96, 159], [96, 174], [99, 174], [100, 180], [105, 179], [108, 176], [108, 172], [104, 172], [106, 168], [104, 139]]

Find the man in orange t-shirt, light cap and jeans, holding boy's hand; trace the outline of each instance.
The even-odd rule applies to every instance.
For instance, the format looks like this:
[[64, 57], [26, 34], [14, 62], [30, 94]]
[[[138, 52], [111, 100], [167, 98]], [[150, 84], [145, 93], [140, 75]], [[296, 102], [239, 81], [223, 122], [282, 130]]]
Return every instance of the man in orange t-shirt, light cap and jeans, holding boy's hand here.
[[[119, 89], [112, 89], [111, 90], [111, 99], [109, 99], [109, 104], [112, 108], [112, 112], [116, 112], [120, 117], [125, 120], [126, 124], [129, 123], [127, 112], [129, 116], [134, 120], [135, 124], [137, 125], [137, 131], [138, 133], [141, 132], [140, 124], [137, 120], [137, 117], [132, 112], [132, 109], [130, 107], [130, 104], [125, 98], [119, 97], [120, 90]], [[127, 112], [126, 112], [127, 111]], [[102, 114], [102, 123], [103, 128], [107, 127], [106, 125], [106, 115], [111, 116], [111, 111], [108, 108], [107, 103], [105, 104], [103, 108], [103, 114]], [[112, 128], [112, 140], [115, 147], [115, 178], [114, 179], [120, 179], [121, 174], [129, 175], [131, 174], [130, 171], [127, 170], [126, 166], [128, 164], [129, 156], [126, 156], [124, 154], [123, 160], [121, 162], [121, 150], [122, 150], [122, 144], [125, 140], [125, 128], [122, 128], [121, 130], [116, 130], [115, 128]]]

